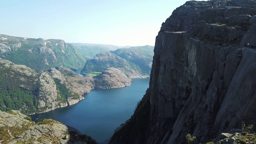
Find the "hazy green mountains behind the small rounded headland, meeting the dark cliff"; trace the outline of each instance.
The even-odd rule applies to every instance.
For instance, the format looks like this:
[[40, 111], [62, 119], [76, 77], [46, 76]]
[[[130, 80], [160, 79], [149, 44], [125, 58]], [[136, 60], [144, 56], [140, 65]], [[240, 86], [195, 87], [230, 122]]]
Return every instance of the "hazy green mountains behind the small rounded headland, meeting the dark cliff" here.
[[87, 60], [82, 74], [102, 72], [114, 67], [124, 72], [129, 78], [144, 78], [150, 73], [153, 46], [121, 48], [110, 52], [100, 52], [93, 59]]

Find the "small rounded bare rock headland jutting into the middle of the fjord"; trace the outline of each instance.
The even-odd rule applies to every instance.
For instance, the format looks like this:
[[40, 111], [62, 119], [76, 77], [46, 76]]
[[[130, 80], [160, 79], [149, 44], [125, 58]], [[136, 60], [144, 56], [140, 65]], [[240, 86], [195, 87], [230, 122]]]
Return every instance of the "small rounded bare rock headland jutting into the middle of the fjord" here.
[[94, 77], [95, 88], [120, 88], [130, 86], [131, 79], [116, 68], [108, 68]]

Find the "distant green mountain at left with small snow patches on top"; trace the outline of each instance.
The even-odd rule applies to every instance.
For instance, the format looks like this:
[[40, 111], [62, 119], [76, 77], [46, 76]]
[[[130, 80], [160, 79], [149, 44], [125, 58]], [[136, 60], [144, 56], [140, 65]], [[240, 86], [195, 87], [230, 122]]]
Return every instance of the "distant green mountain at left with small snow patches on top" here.
[[54, 67], [82, 68], [86, 60], [64, 40], [20, 38], [0, 34], [0, 58], [26, 65], [36, 71]]

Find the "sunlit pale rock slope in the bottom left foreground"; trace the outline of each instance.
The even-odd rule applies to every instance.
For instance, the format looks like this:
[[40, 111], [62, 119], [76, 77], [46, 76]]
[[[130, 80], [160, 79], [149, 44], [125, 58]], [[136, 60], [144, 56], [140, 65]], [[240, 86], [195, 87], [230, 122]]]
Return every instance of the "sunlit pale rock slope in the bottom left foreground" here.
[[34, 123], [18, 110], [0, 111], [1, 144], [97, 144], [90, 136], [51, 119]]

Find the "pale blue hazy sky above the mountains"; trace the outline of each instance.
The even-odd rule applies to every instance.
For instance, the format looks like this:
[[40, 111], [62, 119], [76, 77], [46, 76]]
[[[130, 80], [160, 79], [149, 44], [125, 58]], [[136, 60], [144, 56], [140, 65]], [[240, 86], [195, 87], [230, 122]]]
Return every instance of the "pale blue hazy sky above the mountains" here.
[[1, 0], [0, 34], [65, 42], [154, 45], [187, 0]]

